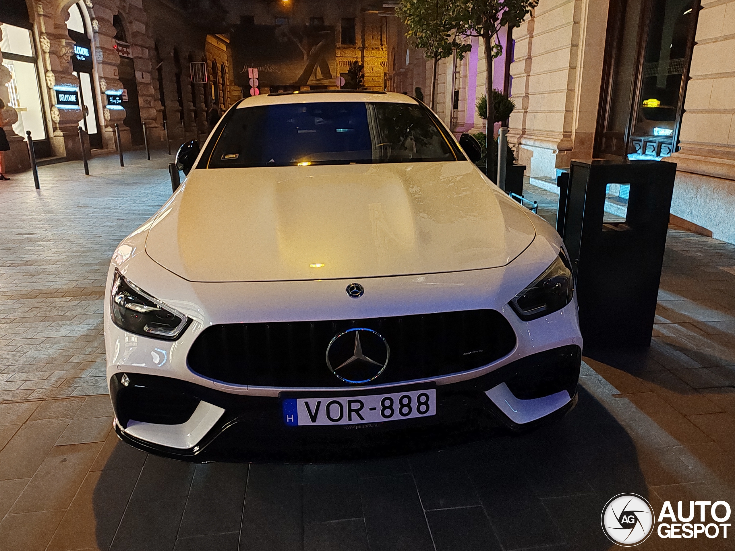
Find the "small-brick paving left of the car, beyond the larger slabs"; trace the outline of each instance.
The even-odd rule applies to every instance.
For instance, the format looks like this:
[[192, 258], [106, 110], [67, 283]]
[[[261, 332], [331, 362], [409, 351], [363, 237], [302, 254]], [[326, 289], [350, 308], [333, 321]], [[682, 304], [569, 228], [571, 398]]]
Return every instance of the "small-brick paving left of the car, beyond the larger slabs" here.
[[106, 392], [102, 294], [112, 251], [171, 195], [158, 151], [0, 182], [0, 403]]

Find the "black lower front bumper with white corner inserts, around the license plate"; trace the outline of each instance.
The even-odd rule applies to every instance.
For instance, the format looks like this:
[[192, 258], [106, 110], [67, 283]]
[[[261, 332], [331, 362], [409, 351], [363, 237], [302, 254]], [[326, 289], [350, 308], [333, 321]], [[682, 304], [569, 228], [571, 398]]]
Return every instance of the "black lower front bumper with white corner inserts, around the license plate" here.
[[465, 381], [395, 386], [391, 392], [435, 388], [437, 414], [369, 425], [289, 427], [279, 397], [235, 395], [142, 373], [112, 375], [110, 395], [118, 436], [149, 453], [196, 463], [340, 461], [528, 431], [575, 406], [580, 362], [581, 349], [567, 345]]

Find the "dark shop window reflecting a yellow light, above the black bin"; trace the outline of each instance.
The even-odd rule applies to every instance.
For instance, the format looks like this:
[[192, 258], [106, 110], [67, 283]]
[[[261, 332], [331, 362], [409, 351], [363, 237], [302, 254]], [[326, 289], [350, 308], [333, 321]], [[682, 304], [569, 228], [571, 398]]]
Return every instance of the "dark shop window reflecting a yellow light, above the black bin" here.
[[594, 156], [675, 151], [697, 12], [695, 0], [611, 1]]

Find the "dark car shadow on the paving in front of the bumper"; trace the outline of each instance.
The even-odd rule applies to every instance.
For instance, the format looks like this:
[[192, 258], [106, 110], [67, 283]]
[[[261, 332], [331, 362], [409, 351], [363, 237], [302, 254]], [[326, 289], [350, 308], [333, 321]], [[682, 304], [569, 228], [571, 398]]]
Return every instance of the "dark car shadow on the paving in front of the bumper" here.
[[111, 551], [608, 550], [603, 505], [648, 497], [634, 442], [582, 386], [531, 433], [371, 461], [193, 465], [110, 445], [92, 505]]

